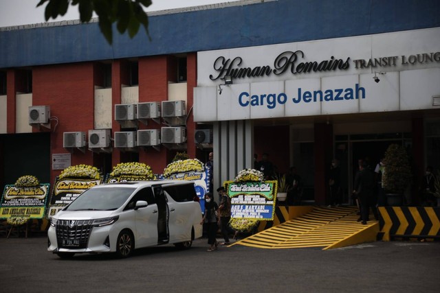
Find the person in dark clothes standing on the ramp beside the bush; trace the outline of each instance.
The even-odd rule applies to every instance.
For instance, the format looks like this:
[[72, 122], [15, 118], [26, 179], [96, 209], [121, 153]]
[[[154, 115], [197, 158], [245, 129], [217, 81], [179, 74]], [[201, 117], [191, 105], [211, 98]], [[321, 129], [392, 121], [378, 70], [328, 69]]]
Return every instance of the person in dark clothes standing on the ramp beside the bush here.
[[358, 222], [362, 221], [362, 224], [366, 224], [369, 220], [369, 200], [374, 196], [374, 175], [371, 169], [367, 168], [364, 161], [359, 165], [359, 172], [355, 177], [355, 185], [353, 194], [358, 197], [360, 204], [360, 218]]

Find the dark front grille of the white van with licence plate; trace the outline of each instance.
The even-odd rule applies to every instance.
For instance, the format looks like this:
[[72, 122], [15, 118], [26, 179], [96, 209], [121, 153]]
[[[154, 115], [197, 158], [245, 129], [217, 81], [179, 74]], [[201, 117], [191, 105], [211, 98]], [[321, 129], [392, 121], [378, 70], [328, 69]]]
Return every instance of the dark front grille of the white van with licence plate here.
[[[58, 220], [56, 240], [59, 248], [87, 248], [94, 220]], [[63, 241], [64, 240], [64, 241]], [[66, 240], [72, 240], [67, 242]], [[69, 243], [68, 245], [63, 243]]]

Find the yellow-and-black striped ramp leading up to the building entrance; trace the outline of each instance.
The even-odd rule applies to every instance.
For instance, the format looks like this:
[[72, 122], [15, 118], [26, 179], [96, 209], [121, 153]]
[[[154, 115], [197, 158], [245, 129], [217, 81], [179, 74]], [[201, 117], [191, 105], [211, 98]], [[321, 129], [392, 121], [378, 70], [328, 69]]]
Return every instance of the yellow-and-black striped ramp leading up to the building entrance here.
[[[357, 222], [356, 207], [314, 207], [305, 215], [241, 239], [232, 245], [257, 248], [340, 248], [376, 240], [379, 222]], [[370, 219], [374, 219], [370, 215]]]

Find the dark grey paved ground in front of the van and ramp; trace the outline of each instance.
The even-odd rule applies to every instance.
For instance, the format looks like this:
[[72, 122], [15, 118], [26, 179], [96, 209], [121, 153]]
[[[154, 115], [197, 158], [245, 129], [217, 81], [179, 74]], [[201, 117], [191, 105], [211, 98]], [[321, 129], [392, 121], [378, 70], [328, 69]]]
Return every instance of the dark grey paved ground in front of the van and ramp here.
[[62, 260], [45, 237], [0, 239], [1, 292], [438, 292], [439, 242], [335, 250], [161, 246]]

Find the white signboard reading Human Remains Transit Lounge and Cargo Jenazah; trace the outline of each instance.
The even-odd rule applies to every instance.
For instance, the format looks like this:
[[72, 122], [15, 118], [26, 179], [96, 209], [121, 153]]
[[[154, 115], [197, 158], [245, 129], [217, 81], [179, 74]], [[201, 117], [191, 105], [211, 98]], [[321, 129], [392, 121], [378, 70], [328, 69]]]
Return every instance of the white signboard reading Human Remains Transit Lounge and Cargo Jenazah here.
[[440, 108], [432, 105], [440, 93], [440, 28], [203, 51], [197, 58], [197, 122]]

